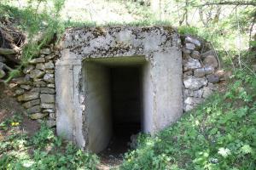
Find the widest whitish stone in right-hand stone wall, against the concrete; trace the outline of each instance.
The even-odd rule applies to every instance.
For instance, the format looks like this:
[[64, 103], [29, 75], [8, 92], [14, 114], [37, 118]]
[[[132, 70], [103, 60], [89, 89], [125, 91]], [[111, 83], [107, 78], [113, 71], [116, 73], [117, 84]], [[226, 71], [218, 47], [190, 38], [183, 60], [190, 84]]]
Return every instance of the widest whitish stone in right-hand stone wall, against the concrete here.
[[185, 88], [189, 89], [195, 89], [195, 88], [201, 88], [205, 85], [207, 85], [207, 79], [206, 78], [200, 78], [200, 77], [185, 77], [183, 79], [183, 83]]

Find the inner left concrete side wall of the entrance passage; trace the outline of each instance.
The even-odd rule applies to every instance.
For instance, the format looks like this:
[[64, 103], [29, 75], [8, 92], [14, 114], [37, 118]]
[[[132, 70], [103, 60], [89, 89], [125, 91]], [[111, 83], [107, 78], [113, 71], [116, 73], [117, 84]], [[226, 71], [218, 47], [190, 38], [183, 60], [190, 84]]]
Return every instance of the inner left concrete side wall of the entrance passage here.
[[84, 62], [84, 87], [88, 119], [88, 149], [98, 153], [112, 137], [109, 69], [94, 62]]

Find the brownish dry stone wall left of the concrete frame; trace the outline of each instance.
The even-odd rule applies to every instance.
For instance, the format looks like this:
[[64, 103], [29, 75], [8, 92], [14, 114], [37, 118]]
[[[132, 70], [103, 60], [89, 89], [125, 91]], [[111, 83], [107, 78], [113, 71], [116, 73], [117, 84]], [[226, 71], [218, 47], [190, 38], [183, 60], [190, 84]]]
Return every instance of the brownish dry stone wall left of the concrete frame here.
[[55, 126], [55, 54], [51, 48], [40, 51], [39, 57], [29, 61], [23, 69], [23, 77], [9, 84], [15, 97], [26, 108], [27, 116], [45, 120]]

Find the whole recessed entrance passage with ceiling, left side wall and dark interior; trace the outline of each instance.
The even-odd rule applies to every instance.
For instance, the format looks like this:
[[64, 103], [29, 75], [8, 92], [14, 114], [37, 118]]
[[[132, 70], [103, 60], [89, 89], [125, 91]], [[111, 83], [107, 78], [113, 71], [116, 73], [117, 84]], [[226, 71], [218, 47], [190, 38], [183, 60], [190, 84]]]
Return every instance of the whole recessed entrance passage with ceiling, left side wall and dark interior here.
[[[144, 130], [143, 56], [84, 59], [88, 149], [124, 153], [131, 136]], [[107, 153], [108, 154], [108, 153]]]

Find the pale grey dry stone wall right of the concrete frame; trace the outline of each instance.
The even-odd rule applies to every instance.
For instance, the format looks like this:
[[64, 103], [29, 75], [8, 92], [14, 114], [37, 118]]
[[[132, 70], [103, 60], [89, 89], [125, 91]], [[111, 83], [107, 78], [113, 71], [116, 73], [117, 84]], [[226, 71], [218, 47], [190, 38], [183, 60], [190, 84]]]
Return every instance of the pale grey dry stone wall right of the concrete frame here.
[[190, 111], [216, 90], [221, 79], [218, 56], [207, 42], [183, 37], [183, 111]]

